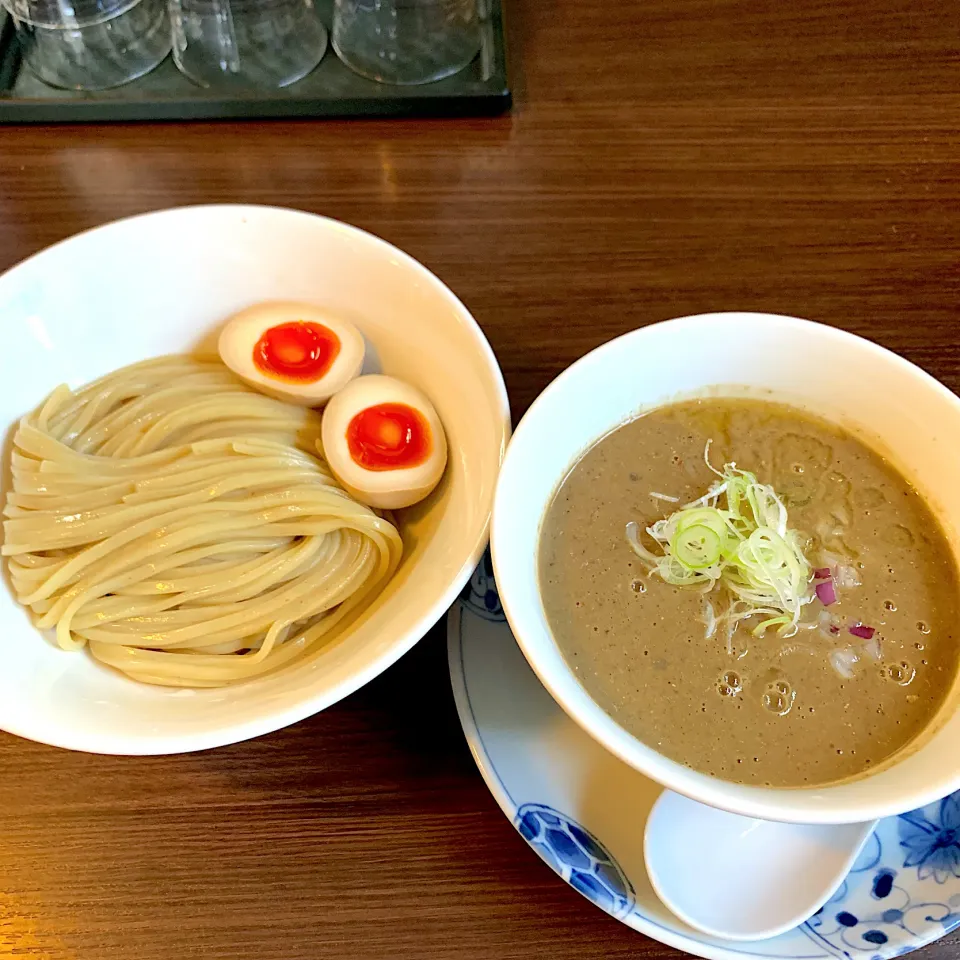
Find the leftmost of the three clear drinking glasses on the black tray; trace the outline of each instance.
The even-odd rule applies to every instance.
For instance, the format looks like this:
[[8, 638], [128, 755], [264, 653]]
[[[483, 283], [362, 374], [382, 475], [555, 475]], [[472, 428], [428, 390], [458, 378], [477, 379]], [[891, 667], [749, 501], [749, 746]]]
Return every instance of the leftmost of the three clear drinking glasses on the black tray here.
[[166, 0], [2, 0], [24, 64], [45, 83], [103, 90], [170, 52]]

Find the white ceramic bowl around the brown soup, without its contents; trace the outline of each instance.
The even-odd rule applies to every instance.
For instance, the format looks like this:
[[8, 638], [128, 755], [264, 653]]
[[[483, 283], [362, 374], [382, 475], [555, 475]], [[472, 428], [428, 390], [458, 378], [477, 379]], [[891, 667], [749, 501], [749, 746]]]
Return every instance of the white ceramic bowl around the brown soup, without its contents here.
[[[720, 387], [716, 390], [713, 388]], [[740, 786], [668, 760], [587, 695], [551, 637], [537, 586], [540, 523], [568, 468], [637, 413], [706, 392], [772, 391], [853, 427], [927, 497], [960, 553], [960, 399], [922, 370], [851, 334], [805, 320], [721, 313], [635, 330], [562, 373], [528, 410], [507, 451], [491, 540], [510, 626], [557, 702], [608, 750], [664, 786], [746, 816], [807, 823], [872, 820], [960, 788], [956, 693], [916, 752], [843, 785]]]

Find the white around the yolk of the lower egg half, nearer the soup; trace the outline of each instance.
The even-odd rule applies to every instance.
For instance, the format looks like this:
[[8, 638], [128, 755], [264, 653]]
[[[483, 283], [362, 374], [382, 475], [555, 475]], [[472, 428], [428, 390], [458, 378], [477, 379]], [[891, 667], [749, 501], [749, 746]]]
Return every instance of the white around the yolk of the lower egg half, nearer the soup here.
[[[350, 421], [368, 407], [382, 403], [406, 404], [426, 421], [432, 443], [423, 463], [396, 470], [367, 470], [350, 455]], [[327, 463], [347, 492], [381, 510], [398, 510], [422, 500], [440, 482], [447, 463], [447, 438], [433, 404], [416, 387], [394, 377], [377, 374], [348, 383], [323, 411], [320, 433]]]

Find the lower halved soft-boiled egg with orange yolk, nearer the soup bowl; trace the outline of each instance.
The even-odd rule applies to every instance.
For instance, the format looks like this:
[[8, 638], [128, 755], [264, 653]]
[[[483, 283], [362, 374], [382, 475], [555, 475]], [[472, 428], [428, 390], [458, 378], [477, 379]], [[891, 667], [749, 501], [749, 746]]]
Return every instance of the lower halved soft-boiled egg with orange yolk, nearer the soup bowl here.
[[416, 387], [372, 375], [327, 404], [323, 453], [355, 499], [382, 510], [409, 507], [439, 483], [447, 440], [433, 404]]

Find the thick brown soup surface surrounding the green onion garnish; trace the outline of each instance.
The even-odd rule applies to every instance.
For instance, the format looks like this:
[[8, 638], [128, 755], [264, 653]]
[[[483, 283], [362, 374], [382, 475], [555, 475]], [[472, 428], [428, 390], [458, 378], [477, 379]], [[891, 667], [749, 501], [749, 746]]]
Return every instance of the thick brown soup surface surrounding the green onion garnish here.
[[[649, 573], [625, 535], [716, 481], [708, 440], [712, 464], [774, 487], [837, 596], [805, 606], [792, 636], [740, 622], [732, 652], [706, 636], [704, 594]], [[929, 508], [856, 437], [779, 404], [677, 404], [601, 439], [547, 510], [539, 565], [550, 627], [587, 692], [645, 743], [727, 780], [867, 773], [930, 723], [957, 673], [957, 570]]]

